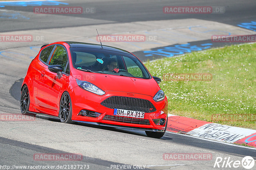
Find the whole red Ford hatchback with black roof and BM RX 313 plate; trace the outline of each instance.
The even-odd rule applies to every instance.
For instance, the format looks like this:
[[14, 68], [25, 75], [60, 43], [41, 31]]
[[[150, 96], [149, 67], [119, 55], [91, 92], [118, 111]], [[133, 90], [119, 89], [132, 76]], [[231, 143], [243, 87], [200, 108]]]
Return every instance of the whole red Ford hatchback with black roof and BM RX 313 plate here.
[[132, 53], [111, 46], [55, 42], [41, 47], [21, 88], [22, 114], [43, 114], [102, 126], [146, 131], [161, 138], [167, 99]]

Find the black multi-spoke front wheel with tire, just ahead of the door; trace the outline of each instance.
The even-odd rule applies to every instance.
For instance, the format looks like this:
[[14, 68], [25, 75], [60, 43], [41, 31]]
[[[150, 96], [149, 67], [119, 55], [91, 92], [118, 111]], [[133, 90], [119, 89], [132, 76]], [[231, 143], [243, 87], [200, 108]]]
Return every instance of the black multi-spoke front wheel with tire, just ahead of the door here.
[[72, 103], [68, 92], [64, 92], [61, 96], [59, 117], [62, 123], [72, 122]]

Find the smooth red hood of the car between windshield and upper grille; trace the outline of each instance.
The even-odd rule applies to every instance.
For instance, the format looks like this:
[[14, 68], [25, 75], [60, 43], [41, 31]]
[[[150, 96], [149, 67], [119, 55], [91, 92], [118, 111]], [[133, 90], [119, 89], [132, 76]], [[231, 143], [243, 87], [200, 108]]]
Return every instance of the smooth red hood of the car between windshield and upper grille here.
[[90, 73], [80, 70], [75, 72], [76, 74], [72, 74], [73, 77], [91, 82], [103, 91], [137, 93], [154, 97], [156, 92], [160, 90], [160, 87], [153, 78], [141, 79], [120, 75]]

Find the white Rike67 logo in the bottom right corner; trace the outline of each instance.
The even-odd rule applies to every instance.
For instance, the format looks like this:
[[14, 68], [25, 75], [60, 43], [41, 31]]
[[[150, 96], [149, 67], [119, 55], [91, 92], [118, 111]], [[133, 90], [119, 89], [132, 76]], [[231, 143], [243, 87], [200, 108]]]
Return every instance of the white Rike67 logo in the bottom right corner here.
[[241, 165], [245, 169], [251, 169], [254, 166], [254, 159], [251, 156], [245, 156], [242, 161], [240, 160], [230, 160], [230, 157], [228, 158], [221, 158], [217, 157], [214, 163], [214, 168], [238, 168], [241, 167]]

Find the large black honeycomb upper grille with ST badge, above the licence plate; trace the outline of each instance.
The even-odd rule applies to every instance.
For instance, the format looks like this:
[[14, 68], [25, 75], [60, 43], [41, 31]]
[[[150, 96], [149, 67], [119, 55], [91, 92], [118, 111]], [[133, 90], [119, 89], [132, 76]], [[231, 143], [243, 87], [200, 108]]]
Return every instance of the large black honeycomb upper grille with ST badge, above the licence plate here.
[[143, 111], [146, 113], [156, 111], [155, 106], [148, 100], [132, 97], [111, 96], [105, 99], [100, 104], [110, 109], [120, 108], [127, 110]]

